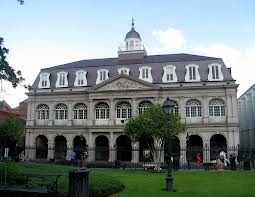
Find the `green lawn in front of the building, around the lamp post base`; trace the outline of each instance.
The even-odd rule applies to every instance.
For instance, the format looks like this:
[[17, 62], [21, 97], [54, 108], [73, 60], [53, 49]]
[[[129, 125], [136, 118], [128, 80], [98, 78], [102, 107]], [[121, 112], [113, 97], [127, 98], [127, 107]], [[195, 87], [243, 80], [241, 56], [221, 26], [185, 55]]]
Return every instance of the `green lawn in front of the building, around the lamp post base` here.
[[[68, 189], [68, 166], [45, 164], [19, 165], [23, 172], [61, 172], [61, 190]], [[160, 197], [160, 196], [255, 196], [255, 171], [175, 171], [174, 188], [176, 192], [167, 193], [165, 173], [152, 173], [143, 170], [91, 169], [92, 182], [101, 186], [104, 177], [113, 177], [125, 185], [124, 191], [113, 197]], [[95, 177], [97, 177], [95, 179]], [[108, 184], [111, 184], [110, 182]]]

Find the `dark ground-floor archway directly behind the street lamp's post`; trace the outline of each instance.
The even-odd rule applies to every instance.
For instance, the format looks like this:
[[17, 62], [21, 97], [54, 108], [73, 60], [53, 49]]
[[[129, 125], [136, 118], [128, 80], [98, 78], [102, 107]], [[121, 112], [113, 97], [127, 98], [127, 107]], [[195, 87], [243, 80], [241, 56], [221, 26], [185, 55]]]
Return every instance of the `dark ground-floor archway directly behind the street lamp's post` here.
[[[169, 142], [166, 141], [164, 145], [164, 161], [165, 163], [168, 162], [168, 146]], [[180, 167], [179, 160], [180, 160], [180, 140], [178, 137], [174, 137], [171, 140], [171, 156], [173, 157], [173, 168], [178, 169]]]

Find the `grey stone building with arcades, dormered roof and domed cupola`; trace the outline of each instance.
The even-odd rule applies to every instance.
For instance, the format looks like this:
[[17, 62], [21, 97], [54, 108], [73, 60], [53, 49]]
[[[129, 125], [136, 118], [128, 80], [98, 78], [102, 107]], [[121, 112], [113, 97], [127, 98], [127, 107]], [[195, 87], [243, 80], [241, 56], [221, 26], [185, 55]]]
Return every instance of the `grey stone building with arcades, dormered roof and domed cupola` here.
[[[176, 136], [178, 146], [239, 144], [238, 85], [223, 60], [190, 54], [147, 55], [141, 41], [132, 23], [118, 57], [40, 71], [27, 93], [28, 158], [63, 159], [69, 150], [95, 148], [89, 161], [139, 162], [142, 154], [118, 152], [120, 147], [146, 149], [142, 139], [131, 142], [123, 134], [123, 125], [167, 97], [175, 101], [174, 112], [187, 126], [186, 133]], [[104, 151], [97, 152], [98, 147]], [[202, 156], [204, 161], [210, 159]], [[186, 160], [186, 154], [181, 157]]]

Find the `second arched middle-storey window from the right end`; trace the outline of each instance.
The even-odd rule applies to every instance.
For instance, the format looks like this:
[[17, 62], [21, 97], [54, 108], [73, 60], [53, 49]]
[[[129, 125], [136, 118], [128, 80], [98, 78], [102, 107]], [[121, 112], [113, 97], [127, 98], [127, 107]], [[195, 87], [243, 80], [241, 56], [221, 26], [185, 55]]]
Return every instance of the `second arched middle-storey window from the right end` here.
[[191, 99], [186, 103], [186, 117], [201, 117], [202, 106], [196, 99]]

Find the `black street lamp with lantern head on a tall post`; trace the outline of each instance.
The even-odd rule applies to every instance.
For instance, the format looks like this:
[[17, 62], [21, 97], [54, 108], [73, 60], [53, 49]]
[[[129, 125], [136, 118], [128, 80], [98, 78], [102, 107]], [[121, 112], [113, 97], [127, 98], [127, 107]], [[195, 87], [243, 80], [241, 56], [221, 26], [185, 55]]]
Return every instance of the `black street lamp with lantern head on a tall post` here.
[[[170, 116], [173, 113], [175, 103], [173, 100], [170, 100], [169, 97], [166, 98], [162, 107], [165, 110], [166, 114]], [[169, 120], [168, 120], [169, 121]], [[167, 121], [167, 122], [168, 122]], [[172, 177], [172, 159], [171, 159], [171, 139], [168, 137], [168, 168], [167, 168], [167, 175], [166, 175], [166, 191], [172, 192], [173, 191], [173, 177]]]

